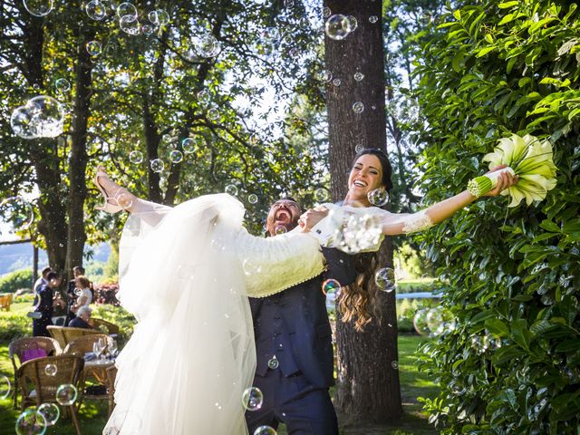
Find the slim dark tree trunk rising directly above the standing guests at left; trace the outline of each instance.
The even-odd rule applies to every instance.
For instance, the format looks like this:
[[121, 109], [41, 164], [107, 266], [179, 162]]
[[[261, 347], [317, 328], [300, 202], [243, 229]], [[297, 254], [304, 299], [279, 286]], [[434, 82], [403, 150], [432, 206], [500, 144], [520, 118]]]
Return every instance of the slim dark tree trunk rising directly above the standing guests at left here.
[[73, 267], [82, 266], [82, 253], [86, 233], [84, 231], [84, 201], [87, 197], [87, 122], [91, 111], [91, 56], [85, 49], [93, 34], [78, 34], [78, 57], [72, 122], [71, 158], [69, 160], [70, 189], [67, 201], [68, 243], [66, 249], [66, 268], [68, 276], [73, 276]]

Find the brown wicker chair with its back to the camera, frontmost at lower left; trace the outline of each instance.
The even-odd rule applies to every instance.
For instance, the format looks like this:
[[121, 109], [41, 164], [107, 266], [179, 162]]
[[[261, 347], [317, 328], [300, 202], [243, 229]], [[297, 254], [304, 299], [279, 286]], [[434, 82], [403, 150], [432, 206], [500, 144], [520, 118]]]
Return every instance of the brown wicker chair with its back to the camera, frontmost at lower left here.
[[[56, 373], [52, 376], [45, 373], [48, 364], [56, 366]], [[24, 411], [24, 408], [28, 406], [40, 406], [46, 402], [54, 403], [56, 391], [63, 384], [70, 383], [77, 388], [83, 365], [82, 358], [74, 355], [47, 356], [24, 362], [17, 372], [18, 384], [22, 392], [22, 410]], [[81, 435], [75, 404], [60, 404], [60, 406], [63, 410], [71, 412], [74, 429], [77, 435]]]

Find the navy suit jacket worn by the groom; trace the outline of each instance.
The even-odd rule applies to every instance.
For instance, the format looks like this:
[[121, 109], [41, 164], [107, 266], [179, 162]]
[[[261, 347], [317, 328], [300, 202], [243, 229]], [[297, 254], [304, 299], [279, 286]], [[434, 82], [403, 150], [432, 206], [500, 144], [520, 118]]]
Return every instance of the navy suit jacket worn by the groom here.
[[327, 271], [302, 284], [264, 298], [250, 297], [256, 338], [256, 375], [264, 376], [275, 359], [285, 376], [297, 372], [315, 388], [334, 383], [332, 330], [322, 285], [333, 278], [349, 285], [356, 278], [353, 257], [323, 247]]

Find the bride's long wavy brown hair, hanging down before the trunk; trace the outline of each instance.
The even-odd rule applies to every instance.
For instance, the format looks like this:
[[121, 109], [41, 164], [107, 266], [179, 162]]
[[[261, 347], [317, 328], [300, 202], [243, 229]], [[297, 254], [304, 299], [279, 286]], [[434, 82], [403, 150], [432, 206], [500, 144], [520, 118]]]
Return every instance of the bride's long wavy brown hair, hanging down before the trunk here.
[[[376, 148], [369, 148], [359, 152], [353, 160], [351, 168], [356, 160], [365, 154], [372, 154], [381, 162], [382, 187], [388, 192], [392, 189], [391, 162], [387, 153]], [[362, 331], [364, 325], [372, 320], [371, 309], [375, 306], [376, 287], [372, 284], [375, 270], [378, 264], [378, 252], [365, 252], [354, 257], [354, 267], [357, 272], [356, 280], [352, 285], [343, 287], [338, 299], [338, 311], [342, 314], [343, 322], [353, 322], [354, 329]], [[372, 310], [372, 314], [377, 314]]]

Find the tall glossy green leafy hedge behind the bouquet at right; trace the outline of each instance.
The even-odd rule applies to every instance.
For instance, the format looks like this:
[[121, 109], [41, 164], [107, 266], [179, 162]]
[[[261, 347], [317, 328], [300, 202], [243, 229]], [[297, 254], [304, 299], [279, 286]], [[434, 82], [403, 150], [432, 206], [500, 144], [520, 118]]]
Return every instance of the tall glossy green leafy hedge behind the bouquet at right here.
[[420, 46], [427, 199], [457, 193], [510, 132], [549, 139], [558, 185], [532, 207], [480, 199], [418, 236], [457, 329], [426, 344], [442, 433], [576, 433], [580, 423], [580, 16], [567, 2], [466, 2]]

